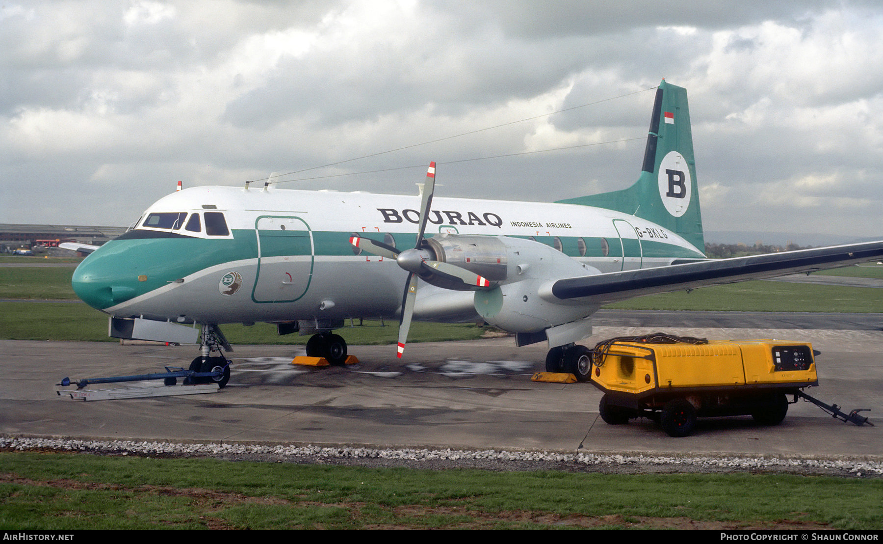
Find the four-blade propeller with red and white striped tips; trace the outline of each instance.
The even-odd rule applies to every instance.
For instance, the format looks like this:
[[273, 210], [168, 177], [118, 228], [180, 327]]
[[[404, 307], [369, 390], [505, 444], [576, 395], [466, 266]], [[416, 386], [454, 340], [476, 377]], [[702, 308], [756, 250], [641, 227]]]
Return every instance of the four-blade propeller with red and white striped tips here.
[[[433, 275], [444, 276], [446, 279], [455, 279], [463, 282], [470, 288], [490, 287], [487, 278], [479, 276], [465, 268], [460, 268], [445, 261], [439, 261], [438, 256], [424, 238], [426, 223], [429, 221], [429, 212], [432, 206], [435, 189], [435, 162], [429, 163], [426, 170], [426, 184], [423, 185], [423, 193], [420, 198], [420, 220], [417, 231], [417, 244], [413, 249], [399, 251], [393, 246], [388, 246], [371, 238], [350, 238], [350, 243], [367, 253], [373, 253], [380, 257], [395, 259], [398, 266], [408, 271], [408, 279], [404, 283], [404, 295], [402, 298], [402, 317], [398, 325], [398, 357], [404, 353], [404, 343], [408, 338], [408, 329], [411, 328], [411, 316], [414, 314], [414, 300], [417, 298], [417, 278], [431, 278]], [[431, 280], [430, 280], [431, 282]]]

